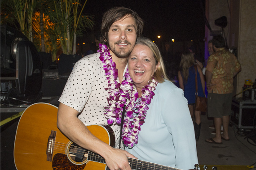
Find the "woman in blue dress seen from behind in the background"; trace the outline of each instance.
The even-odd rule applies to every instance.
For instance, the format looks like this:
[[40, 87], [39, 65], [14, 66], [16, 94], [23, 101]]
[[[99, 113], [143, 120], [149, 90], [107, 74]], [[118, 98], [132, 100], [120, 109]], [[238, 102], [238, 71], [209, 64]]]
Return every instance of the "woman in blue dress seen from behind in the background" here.
[[180, 88], [184, 90], [184, 96], [188, 100], [188, 106], [190, 109], [191, 118], [195, 117], [194, 131], [195, 139], [199, 140], [200, 130], [201, 130], [201, 112], [194, 110], [195, 104], [195, 67], [197, 68], [197, 86], [198, 95], [200, 97], [205, 97], [204, 88], [205, 81], [203, 77], [203, 72], [198, 64], [194, 64], [193, 53], [187, 51], [181, 55], [180, 71], [178, 72], [178, 79]]

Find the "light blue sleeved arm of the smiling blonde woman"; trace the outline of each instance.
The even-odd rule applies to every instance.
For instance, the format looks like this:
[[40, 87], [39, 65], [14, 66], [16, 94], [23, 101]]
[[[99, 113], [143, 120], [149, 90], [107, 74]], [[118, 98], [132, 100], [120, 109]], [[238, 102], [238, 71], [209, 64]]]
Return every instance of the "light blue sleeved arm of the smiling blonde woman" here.
[[[165, 89], [165, 93], [167, 90]], [[182, 170], [193, 169], [198, 164], [193, 121], [181, 89], [168, 91], [172, 95], [161, 100], [163, 119], [172, 134], [175, 149], [176, 167]]]

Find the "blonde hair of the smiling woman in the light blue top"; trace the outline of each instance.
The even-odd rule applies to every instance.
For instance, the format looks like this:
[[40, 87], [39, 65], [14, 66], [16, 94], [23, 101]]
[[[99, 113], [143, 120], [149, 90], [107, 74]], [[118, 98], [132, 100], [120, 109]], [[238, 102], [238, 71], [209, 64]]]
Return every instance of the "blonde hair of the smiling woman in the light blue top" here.
[[155, 64], [159, 63], [159, 67], [157, 68], [156, 72], [154, 72], [154, 75], [153, 75], [155, 79], [159, 83], [163, 83], [164, 79], [169, 80], [166, 74], [162, 55], [157, 45], [153, 43], [149, 38], [145, 38], [145, 37], [137, 38], [136, 44], [141, 44], [149, 47], [154, 54]]

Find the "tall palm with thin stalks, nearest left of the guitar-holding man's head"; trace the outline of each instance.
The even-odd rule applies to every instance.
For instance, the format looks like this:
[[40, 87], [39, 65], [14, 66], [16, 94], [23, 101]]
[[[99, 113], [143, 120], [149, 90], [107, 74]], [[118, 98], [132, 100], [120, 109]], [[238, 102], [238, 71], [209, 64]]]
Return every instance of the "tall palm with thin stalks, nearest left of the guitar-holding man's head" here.
[[93, 29], [93, 16], [82, 14], [86, 2], [81, 5], [79, 0], [47, 0], [45, 11], [64, 54], [75, 54], [76, 36]]

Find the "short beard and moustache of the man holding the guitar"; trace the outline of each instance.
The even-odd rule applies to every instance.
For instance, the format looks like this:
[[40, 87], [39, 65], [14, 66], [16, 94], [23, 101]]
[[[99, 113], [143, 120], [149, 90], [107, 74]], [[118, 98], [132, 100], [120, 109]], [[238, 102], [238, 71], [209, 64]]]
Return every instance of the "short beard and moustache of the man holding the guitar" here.
[[[119, 40], [118, 42], [114, 43], [114, 44], [110, 44], [109, 45], [109, 49], [118, 57], [118, 58], [127, 58], [128, 55], [130, 55], [130, 53], [132, 52], [132, 48], [129, 50], [127, 48], [119, 48], [118, 50], [115, 48], [115, 44], [120, 44], [120, 43], [125, 43], [129, 45], [132, 45], [130, 42], [128, 42], [127, 40], [125, 40], [124, 42], [122, 40]], [[127, 51], [128, 50], [128, 51]]]

